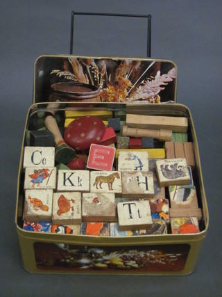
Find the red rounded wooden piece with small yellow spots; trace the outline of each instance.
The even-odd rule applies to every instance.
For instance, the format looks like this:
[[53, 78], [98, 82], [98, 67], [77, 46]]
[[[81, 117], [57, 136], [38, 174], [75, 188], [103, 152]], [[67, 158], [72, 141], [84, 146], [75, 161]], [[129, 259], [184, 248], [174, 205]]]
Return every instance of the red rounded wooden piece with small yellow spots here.
[[83, 115], [65, 129], [64, 140], [75, 150], [87, 150], [92, 143], [99, 143], [105, 134], [103, 121], [94, 115]]

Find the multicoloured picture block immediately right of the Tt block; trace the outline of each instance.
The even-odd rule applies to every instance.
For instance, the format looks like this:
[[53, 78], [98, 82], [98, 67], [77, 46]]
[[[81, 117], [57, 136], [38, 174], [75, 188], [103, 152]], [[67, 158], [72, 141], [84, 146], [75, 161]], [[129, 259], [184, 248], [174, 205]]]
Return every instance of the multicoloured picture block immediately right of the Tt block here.
[[154, 220], [164, 220], [169, 223], [169, 200], [151, 198], [148, 200], [151, 207], [151, 215]]

